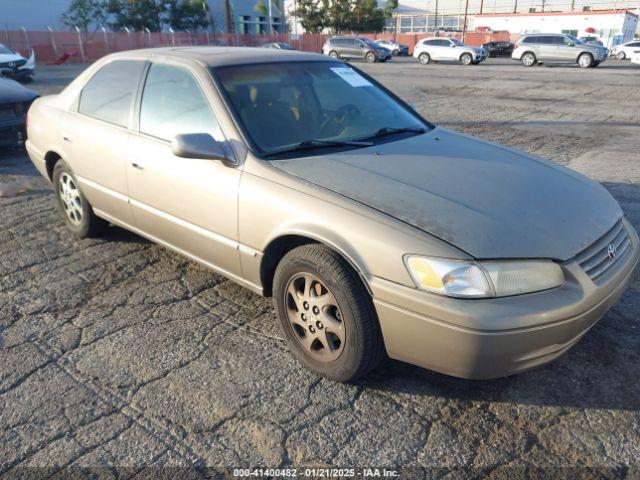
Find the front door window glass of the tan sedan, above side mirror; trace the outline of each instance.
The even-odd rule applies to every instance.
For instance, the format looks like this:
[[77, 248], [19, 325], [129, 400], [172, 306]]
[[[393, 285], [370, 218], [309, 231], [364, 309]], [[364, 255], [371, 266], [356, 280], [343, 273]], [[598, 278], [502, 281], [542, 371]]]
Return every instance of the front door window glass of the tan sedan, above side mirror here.
[[154, 63], [140, 104], [140, 131], [171, 141], [183, 133], [209, 133], [222, 139], [207, 98], [186, 69]]

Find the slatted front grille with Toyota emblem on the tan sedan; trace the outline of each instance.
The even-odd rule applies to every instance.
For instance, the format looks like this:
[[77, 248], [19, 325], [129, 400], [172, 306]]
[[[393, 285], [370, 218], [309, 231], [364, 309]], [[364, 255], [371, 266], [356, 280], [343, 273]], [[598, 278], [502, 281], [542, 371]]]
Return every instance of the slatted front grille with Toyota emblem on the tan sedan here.
[[[609, 254], [610, 246], [615, 250], [613, 258]], [[598, 283], [607, 272], [621, 264], [630, 247], [629, 233], [620, 220], [593, 245], [579, 253], [576, 260], [589, 278]]]

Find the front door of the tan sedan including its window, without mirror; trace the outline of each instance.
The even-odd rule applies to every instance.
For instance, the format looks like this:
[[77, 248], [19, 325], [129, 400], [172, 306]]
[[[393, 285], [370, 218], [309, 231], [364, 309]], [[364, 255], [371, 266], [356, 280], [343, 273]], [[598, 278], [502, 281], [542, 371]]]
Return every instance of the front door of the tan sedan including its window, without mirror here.
[[137, 228], [231, 277], [240, 274], [237, 198], [240, 169], [176, 157], [171, 140], [209, 133], [224, 140], [199, 81], [186, 67], [153, 63], [145, 80], [139, 132], [129, 140], [129, 194]]

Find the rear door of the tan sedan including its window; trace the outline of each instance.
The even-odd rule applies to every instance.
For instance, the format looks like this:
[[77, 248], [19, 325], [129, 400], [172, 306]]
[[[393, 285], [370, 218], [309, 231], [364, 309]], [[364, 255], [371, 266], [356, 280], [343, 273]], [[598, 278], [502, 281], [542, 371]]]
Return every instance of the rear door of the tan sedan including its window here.
[[76, 105], [60, 124], [65, 160], [82, 193], [107, 218], [133, 225], [128, 203], [128, 126], [146, 63], [107, 63], [86, 83]]

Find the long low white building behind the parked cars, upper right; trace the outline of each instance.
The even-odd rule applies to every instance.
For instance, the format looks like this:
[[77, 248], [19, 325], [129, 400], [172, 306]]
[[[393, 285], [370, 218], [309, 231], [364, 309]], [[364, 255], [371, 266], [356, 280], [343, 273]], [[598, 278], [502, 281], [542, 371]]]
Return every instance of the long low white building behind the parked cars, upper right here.
[[[588, 8], [588, 7], [583, 7]], [[524, 33], [568, 33], [575, 37], [594, 36], [611, 47], [634, 38], [638, 14], [629, 10], [588, 10], [578, 12], [529, 12], [476, 14], [469, 30]]]

